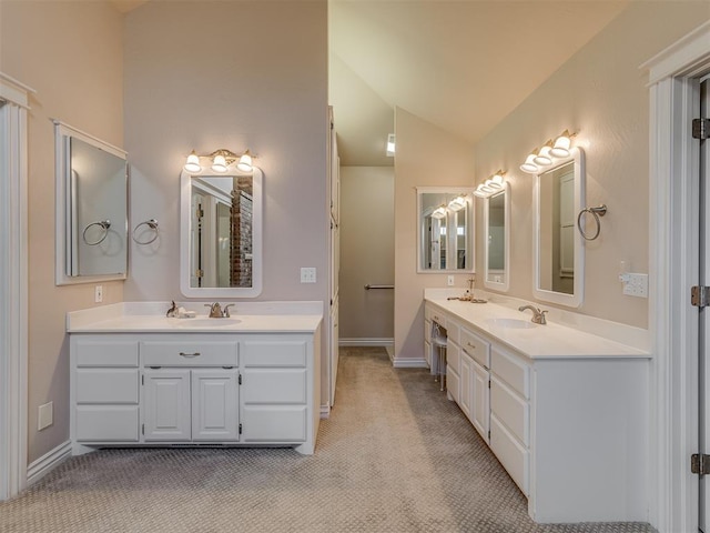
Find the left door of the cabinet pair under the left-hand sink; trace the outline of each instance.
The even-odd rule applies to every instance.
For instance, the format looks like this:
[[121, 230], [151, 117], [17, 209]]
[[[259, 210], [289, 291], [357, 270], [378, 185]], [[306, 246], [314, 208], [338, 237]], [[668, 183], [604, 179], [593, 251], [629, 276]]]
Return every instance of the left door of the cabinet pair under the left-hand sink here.
[[190, 370], [145, 370], [145, 441], [191, 439]]

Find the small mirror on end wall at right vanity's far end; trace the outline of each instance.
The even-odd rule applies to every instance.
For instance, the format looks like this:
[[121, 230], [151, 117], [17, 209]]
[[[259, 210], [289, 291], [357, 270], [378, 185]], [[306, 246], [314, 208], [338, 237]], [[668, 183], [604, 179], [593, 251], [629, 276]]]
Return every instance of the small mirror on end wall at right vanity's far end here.
[[417, 188], [417, 272], [474, 272], [470, 188]]

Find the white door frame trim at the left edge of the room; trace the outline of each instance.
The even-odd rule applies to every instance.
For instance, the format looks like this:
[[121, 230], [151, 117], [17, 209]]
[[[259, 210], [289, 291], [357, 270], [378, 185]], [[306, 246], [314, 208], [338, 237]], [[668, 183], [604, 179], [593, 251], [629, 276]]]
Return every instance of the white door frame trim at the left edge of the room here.
[[33, 92], [0, 72], [0, 501], [27, 486], [27, 111]]

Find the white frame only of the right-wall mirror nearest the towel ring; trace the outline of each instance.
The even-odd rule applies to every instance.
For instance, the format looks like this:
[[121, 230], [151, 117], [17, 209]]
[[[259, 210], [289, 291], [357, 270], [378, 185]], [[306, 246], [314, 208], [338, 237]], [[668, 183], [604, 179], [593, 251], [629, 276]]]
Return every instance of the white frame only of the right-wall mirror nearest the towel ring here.
[[580, 148], [570, 149], [570, 155], [556, 160], [552, 165], [545, 169], [545, 172], [537, 174], [535, 179], [535, 224], [532, 225], [532, 294], [538, 300], [557, 303], [568, 308], [578, 308], [585, 299], [585, 241], [575, 228], [575, 292], [566, 294], [554, 292], [540, 288], [540, 177], [558, 169], [559, 167], [574, 162], [575, 170], [575, 215], [585, 205], [585, 153]]

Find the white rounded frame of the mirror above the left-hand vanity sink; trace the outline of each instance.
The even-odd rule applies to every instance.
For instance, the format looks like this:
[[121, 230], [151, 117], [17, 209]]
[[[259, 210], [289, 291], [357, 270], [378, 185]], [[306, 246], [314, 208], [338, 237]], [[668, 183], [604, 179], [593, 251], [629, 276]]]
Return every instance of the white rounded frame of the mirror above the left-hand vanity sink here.
[[227, 171], [216, 173], [210, 169], [201, 172], [189, 173], [184, 169], [180, 174], [180, 292], [186, 298], [256, 298], [262, 292], [263, 275], [263, 253], [262, 253], [262, 219], [263, 219], [263, 173], [257, 167], [253, 168], [252, 178], [254, 180], [253, 201], [254, 211], [252, 213], [252, 286], [190, 286], [190, 209], [191, 209], [191, 184], [192, 178], [230, 175], [248, 175], [236, 169], [234, 163], [227, 167]]

